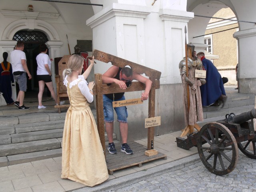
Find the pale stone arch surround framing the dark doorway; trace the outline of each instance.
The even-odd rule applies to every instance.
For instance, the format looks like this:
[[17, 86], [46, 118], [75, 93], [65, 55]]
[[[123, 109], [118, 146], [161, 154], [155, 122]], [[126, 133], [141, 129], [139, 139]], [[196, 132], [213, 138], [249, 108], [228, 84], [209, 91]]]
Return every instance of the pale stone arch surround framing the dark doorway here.
[[[12, 23], [10, 23], [5, 29], [2, 34], [1, 40], [0, 40], [0, 46], [2, 47], [4, 52], [8, 52], [10, 55], [10, 52], [13, 50], [14, 46], [16, 45], [16, 41], [12, 40], [14, 34], [20, 30], [39, 30], [44, 32], [48, 38], [48, 42], [46, 42], [46, 45], [49, 50], [49, 57], [50, 58], [56, 58], [60, 57], [60, 47], [62, 46], [63, 42], [60, 41], [60, 37], [58, 35], [58, 32], [55, 30], [55, 28], [42, 20], [36, 20], [36, 19], [21, 19], [16, 20]], [[54, 61], [51, 66], [51, 71], [54, 72], [55, 76], [55, 65]], [[52, 82], [54, 84], [54, 90], [56, 92], [56, 83], [55, 78], [52, 79]], [[12, 98], [16, 100], [16, 88], [12, 88]]]

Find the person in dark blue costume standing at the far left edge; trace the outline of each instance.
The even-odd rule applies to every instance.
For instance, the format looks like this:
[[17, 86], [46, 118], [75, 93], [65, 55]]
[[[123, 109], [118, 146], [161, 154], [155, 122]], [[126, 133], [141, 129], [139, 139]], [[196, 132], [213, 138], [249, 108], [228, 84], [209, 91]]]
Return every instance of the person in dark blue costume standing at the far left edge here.
[[0, 92], [3, 93], [7, 105], [14, 103], [12, 100], [12, 86], [14, 86], [14, 79], [12, 74], [12, 65], [7, 62], [8, 53], [3, 53], [4, 61], [0, 65]]

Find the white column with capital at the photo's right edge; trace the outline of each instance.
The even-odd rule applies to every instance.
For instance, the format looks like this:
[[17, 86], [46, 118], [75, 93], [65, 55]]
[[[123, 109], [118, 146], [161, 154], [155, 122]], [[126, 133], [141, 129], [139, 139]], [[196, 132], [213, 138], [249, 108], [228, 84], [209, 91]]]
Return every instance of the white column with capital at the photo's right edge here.
[[238, 40], [239, 92], [256, 94], [256, 28], [235, 32]]

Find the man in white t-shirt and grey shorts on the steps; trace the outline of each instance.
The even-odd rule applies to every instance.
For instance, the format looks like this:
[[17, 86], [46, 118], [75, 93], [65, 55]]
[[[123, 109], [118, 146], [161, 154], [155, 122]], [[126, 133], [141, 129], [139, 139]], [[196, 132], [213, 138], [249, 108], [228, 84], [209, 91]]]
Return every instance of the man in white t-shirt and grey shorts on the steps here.
[[23, 104], [25, 92], [27, 90], [27, 77], [28, 79], [32, 78], [28, 66], [26, 64], [26, 54], [23, 52], [24, 43], [21, 41], [17, 42], [16, 49], [11, 52], [11, 64], [12, 64], [12, 73], [14, 76], [14, 80], [19, 85], [19, 93], [17, 96], [17, 101], [14, 102], [14, 105], [18, 107], [18, 110], [26, 110], [30, 109], [29, 107], [25, 107]]

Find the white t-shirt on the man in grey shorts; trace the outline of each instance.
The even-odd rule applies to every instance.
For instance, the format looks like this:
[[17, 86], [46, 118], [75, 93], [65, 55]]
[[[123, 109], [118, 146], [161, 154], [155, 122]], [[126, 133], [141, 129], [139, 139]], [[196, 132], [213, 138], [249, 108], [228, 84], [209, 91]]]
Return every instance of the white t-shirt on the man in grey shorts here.
[[15, 71], [25, 71], [22, 66], [21, 60], [27, 60], [26, 54], [21, 50], [13, 50], [10, 54], [11, 56], [11, 64], [12, 64], [12, 73]]

